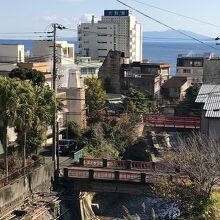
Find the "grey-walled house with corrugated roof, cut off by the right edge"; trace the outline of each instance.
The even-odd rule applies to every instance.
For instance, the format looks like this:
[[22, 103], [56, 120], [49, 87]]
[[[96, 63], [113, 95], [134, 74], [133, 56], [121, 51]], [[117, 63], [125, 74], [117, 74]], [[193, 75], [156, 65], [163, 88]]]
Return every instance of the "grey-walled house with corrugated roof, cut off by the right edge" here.
[[195, 102], [203, 104], [201, 132], [220, 140], [220, 85], [202, 85]]

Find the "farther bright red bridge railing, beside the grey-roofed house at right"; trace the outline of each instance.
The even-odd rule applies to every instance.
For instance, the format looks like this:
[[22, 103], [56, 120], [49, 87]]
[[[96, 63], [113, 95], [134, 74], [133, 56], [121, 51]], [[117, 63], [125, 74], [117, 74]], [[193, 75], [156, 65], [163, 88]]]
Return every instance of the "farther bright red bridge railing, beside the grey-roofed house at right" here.
[[164, 128], [200, 128], [199, 117], [180, 117], [164, 115], [147, 115], [144, 118], [146, 126], [164, 127]]

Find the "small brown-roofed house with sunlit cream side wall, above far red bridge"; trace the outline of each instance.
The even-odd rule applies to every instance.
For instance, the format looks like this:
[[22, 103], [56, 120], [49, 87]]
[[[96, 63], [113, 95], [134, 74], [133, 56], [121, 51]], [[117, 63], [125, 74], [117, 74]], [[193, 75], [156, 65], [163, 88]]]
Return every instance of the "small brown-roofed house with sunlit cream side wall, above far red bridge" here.
[[182, 100], [191, 85], [191, 78], [173, 76], [162, 85], [161, 94], [166, 99]]

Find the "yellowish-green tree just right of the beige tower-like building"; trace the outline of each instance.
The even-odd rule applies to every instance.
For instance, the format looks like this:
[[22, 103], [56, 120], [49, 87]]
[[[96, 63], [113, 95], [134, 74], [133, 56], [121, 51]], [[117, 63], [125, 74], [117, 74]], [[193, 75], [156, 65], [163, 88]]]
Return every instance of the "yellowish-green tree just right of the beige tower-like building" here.
[[103, 90], [102, 83], [96, 78], [85, 79], [86, 85], [86, 104], [89, 112], [97, 113], [105, 106], [106, 92]]

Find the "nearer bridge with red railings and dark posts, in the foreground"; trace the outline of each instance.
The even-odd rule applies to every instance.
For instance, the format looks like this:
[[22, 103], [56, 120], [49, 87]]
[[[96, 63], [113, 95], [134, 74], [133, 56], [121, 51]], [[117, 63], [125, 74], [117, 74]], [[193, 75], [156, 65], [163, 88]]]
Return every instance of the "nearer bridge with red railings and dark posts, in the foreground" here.
[[[65, 167], [63, 175], [65, 184], [73, 184], [78, 190], [95, 192], [143, 192], [146, 190], [145, 184], [162, 183], [167, 180], [179, 183], [188, 181], [189, 178], [179, 168], [167, 162], [91, 158], [80, 158], [78, 166]], [[134, 184], [139, 184], [140, 188], [135, 188]]]

